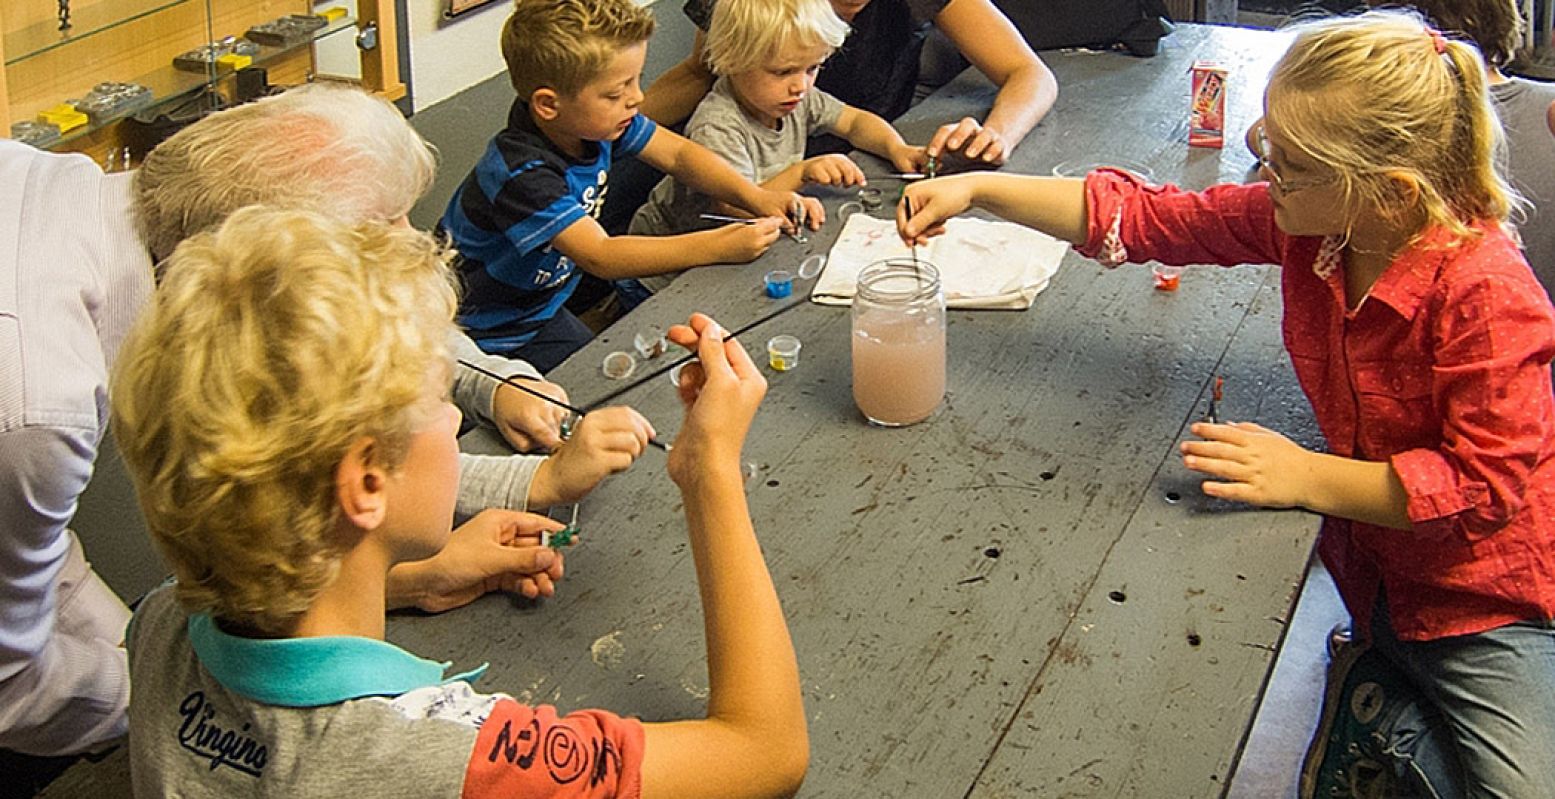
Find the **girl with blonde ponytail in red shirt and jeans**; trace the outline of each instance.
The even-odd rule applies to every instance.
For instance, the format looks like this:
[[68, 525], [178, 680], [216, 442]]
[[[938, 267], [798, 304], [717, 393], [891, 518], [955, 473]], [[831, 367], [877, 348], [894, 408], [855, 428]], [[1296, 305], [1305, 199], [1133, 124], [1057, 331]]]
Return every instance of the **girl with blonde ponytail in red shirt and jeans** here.
[[1354, 631], [1431, 727], [1387, 748], [1400, 776], [1555, 796], [1555, 311], [1507, 232], [1479, 53], [1409, 14], [1305, 26], [1263, 131], [1266, 183], [966, 174], [908, 188], [897, 225], [922, 242], [977, 205], [1109, 266], [1281, 264], [1328, 452], [1199, 423], [1183, 463], [1210, 496], [1325, 516]]

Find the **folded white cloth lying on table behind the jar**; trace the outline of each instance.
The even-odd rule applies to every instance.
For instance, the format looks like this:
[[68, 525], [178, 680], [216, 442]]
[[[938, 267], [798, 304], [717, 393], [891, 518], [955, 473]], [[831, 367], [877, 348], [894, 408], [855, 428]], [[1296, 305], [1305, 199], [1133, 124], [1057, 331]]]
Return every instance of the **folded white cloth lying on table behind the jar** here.
[[[917, 258], [939, 270], [950, 308], [1026, 309], [1059, 269], [1068, 242], [1011, 222], [955, 218], [945, 233], [917, 247]], [[832, 246], [810, 300], [852, 305], [858, 274], [885, 258], [911, 258], [896, 221], [861, 213], [847, 218]]]

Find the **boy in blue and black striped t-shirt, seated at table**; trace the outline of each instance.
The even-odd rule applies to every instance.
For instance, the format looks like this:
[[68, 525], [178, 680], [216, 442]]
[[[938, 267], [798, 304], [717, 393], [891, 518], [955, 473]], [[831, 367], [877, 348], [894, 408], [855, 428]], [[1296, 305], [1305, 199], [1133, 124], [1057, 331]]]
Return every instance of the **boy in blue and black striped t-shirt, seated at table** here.
[[[518, 99], [454, 193], [440, 229], [459, 250], [460, 323], [480, 348], [547, 372], [592, 333], [563, 303], [578, 270], [628, 280], [750, 261], [799, 197], [740, 177], [638, 110], [653, 16], [633, 0], [518, 0], [502, 58]], [[686, 236], [610, 236], [597, 222], [611, 163], [639, 157], [750, 216]]]

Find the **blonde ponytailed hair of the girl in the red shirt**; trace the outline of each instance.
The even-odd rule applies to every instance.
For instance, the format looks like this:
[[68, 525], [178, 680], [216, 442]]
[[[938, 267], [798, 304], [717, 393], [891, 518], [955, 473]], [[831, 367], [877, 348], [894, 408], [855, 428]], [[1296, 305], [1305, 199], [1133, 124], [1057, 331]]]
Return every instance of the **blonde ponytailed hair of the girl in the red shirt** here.
[[[1437, 48], [1441, 53], [1437, 53]], [[1516, 193], [1501, 176], [1501, 123], [1473, 45], [1415, 14], [1373, 11], [1297, 28], [1269, 79], [1267, 120], [1291, 148], [1339, 176], [1348, 201], [1403, 224], [1424, 216], [1457, 241], [1505, 222]], [[1393, 176], [1413, 179], [1410, 197]]]

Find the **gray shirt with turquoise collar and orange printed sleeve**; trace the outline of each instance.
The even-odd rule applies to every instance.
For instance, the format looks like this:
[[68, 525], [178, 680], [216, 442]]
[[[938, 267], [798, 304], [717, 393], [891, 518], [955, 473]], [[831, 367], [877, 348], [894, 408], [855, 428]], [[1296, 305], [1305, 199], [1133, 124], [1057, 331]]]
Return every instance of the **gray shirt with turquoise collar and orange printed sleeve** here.
[[639, 799], [642, 723], [560, 715], [351, 636], [244, 639], [173, 586], [129, 628], [135, 796]]

